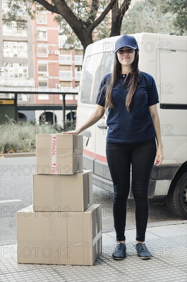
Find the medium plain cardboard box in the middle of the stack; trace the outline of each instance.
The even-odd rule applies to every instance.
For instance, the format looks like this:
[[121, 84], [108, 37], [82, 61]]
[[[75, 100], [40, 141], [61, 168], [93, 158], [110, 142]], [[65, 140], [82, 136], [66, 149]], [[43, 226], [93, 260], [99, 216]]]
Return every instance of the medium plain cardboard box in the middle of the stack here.
[[92, 171], [33, 175], [33, 210], [84, 212], [92, 204]]

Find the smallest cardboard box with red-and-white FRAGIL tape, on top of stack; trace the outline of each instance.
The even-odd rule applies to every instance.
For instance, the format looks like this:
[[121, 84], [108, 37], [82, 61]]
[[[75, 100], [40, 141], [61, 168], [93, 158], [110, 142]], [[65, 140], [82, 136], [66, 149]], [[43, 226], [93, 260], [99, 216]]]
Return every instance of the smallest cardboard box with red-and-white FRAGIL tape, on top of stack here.
[[83, 171], [83, 135], [37, 134], [36, 173], [74, 174]]

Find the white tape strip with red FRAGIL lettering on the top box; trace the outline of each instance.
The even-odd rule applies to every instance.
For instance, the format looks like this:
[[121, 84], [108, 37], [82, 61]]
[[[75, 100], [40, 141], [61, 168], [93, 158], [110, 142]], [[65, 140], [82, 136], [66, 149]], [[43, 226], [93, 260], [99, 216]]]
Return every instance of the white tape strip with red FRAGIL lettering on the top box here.
[[51, 134], [51, 174], [58, 174], [58, 170], [57, 170], [57, 134]]

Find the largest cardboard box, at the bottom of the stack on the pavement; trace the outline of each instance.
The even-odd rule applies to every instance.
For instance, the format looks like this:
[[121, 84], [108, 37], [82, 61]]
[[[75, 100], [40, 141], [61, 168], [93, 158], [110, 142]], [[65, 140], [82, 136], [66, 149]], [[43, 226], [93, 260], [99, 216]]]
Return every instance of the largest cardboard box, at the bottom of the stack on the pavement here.
[[92, 266], [102, 251], [101, 205], [85, 212], [16, 212], [17, 262]]

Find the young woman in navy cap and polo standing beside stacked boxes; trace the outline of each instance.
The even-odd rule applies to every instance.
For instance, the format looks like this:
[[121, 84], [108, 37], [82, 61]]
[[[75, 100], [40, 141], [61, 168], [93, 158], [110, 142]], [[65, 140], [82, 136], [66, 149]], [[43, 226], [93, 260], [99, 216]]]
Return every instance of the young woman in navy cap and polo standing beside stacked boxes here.
[[[151, 258], [145, 245], [149, 215], [148, 187], [156, 156], [156, 166], [163, 160], [159, 103], [154, 78], [138, 69], [139, 49], [136, 39], [123, 35], [115, 43], [112, 73], [102, 79], [96, 111], [80, 128], [64, 133], [79, 134], [97, 123], [108, 107], [106, 158], [113, 182], [113, 218], [116, 243], [114, 259], [126, 257], [126, 203], [130, 190], [135, 201], [136, 244], [139, 258]], [[156, 141], [157, 140], [157, 148]]]

